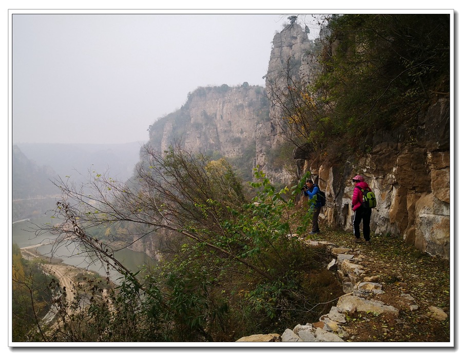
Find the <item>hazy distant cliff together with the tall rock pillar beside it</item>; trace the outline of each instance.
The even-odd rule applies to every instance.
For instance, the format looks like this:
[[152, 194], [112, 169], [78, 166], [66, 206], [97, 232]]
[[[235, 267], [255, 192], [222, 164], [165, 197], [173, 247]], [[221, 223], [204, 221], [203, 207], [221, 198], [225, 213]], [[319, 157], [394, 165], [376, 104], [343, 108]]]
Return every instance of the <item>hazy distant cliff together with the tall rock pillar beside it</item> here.
[[[266, 74], [266, 88], [200, 87], [189, 93], [181, 109], [162, 117], [149, 127], [151, 147], [165, 150], [175, 141], [191, 151], [205, 152], [212, 157], [226, 156], [251, 179], [257, 165], [277, 182], [288, 182], [294, 174], [281, 164], [284, 137], [277, 118], [282, 115], [277, 105], [278, 88], [287, 66], [291, 75], [309, 81], [314, 64], [310, 53], [313, 42], [297, 24], [286, 27], [273, 38]], [[292, 150], [292, 148], [291, 148]], [[286, 156], [286, 163], [291, 163]]]

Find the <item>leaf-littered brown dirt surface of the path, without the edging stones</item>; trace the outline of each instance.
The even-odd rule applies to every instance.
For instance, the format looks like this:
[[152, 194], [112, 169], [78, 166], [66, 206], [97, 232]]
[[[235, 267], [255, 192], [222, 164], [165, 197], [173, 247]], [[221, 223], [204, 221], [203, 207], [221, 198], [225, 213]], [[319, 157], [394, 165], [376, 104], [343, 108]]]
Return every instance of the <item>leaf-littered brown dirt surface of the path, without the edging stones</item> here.
[[[391, 305], [392, 314], [352, 313], [345, 330], [355, 342], [448, 342], [450, 340], [451, 300], [450, 262], [418, 251], [399, 236], [373, 236], [372, 244], [353, 242], [346, 232], [325, 231], [316, 240], [351, 248], [359, 255], [364, 276], [374, 278], [384, 293], [374, 300]], [[349, 253], [349, 252], [348, 252]], [[410, 299], [408, 299], [410, 298]], [[438, 307], [448, 317], [438, 320], [430, 308]]]

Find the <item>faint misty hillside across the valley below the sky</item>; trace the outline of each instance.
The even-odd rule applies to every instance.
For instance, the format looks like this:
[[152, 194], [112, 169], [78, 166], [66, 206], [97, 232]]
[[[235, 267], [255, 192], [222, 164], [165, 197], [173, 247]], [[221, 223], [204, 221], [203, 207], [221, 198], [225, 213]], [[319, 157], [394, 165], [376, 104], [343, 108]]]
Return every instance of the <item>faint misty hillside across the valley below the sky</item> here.
[[126, 181], [139, 161], [141, 143], [120, 145], [18, 144], [12, 152], [13, 220], [41, 216], [60, 194], [52, 181], [70, 176], [88, 182], [89, 172]]

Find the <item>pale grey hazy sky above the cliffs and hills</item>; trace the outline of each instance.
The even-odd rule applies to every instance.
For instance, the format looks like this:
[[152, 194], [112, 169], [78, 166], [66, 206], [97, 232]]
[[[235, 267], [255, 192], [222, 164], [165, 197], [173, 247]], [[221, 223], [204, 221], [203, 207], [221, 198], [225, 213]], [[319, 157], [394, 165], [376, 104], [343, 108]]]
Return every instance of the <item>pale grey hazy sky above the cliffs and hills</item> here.
[[147, 141], [199, 86], [264, 86], [289, 15], [15, 13], [13, 144]]

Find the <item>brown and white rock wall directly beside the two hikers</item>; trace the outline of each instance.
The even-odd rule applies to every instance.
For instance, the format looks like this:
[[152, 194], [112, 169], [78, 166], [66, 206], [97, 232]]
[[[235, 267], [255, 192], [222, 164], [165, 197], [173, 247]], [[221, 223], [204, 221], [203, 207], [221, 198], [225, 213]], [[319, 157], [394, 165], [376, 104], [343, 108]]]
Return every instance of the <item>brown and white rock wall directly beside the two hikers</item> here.
[[324, 166], [301, 161], [302, 169], [311, 171], [325, 190], [321, 218], [330, 226], [353, 231], [351, 179], [361, 174], [377, 197], [373, 232], [402, 235], [421, 251], [449, 258], [449, 137], [449, 100], [441, 99], [421, 112], [415, 136], [406, 146], [399, 131], [377, 132], [372, 152], [359, 162]]

